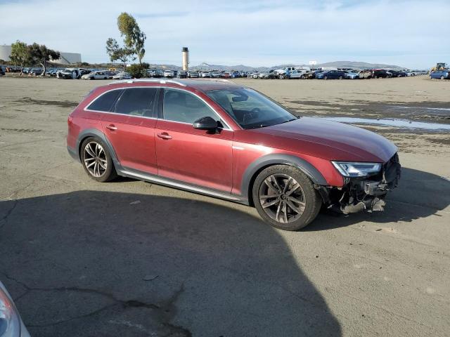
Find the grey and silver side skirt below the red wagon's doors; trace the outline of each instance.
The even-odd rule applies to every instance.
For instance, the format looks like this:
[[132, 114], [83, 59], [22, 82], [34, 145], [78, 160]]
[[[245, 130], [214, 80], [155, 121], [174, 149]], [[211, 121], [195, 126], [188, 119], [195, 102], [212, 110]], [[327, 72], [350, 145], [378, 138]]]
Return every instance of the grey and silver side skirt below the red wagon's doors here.
[[179, 190], [186, 190], [188, 192], [205, 194], [209, 197], [215, 197], [215, 198], [224, 199], [224, 200], [228, 200], [228, 201], [234, 201], [239, 204], [245, 204], [245, 205], [249, 204], [248, 199], [246, 199], [245, 197], [242, 197], [240, 195], [236, 195], [236, 194], [227, 194], [227, 193], [220, 192], [217, 190], [210, 190], [210, 189], [200, 187], [197, 185], [191, 185], [188, 183], [184, 183], [179, 180], [172, 180], [169, 178], [162, 178], [160, 176], [153, 176], [152, 174], [148, 174], [148, 173], [141, 172], [141, 171], [136, 171], [134, 169], [129, 169], [129, 168], [123, 167], [123, 166], [121, 169], [116, 169], [116, 171], [117, 171], [117, 174], [119, 174], [120, 176], [124, 176], [124, 177], [128, 177], [128, 178], [144, 180], [149, 183], [155, 183], [158, 185], [164, 185], [164, 186], [168, 186], [168, 187], [175, 187]]

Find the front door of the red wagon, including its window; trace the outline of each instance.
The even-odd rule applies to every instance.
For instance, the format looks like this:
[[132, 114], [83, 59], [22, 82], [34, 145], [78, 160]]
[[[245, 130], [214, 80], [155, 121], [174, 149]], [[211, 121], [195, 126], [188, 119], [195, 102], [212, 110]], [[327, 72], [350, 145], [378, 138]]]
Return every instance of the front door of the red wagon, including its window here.
[[231, 193], [233, 130], [224, 124], [216, 133], [193, 128], [195, 120], [207, 116], [221, 120], [196, 95], [165, 89], [162, 118], [155, 127], [158, 174]]

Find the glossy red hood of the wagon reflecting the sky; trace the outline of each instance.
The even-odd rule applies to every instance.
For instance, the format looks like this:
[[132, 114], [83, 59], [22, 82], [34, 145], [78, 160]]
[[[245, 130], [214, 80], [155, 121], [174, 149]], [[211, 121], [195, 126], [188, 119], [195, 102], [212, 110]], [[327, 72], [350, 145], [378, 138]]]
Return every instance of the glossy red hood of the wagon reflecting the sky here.
[[266, 136], [264, 145], [329, 160], [385, 162], [398, 150], [377, 133], [320, 118], [301, 117], [251, 131]]

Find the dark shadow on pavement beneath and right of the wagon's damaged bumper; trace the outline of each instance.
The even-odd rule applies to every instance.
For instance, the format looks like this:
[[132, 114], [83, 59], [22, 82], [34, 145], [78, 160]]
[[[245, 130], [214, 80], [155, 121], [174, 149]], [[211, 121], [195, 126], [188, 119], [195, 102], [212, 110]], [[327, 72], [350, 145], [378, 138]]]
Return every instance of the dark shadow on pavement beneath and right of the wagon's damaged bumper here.
[[373, 223], [411, 222], [428, 216], [439, 216], [450, 205], [450, 181], [435, 174], [401, 169], [399, 187], [387, 195], [383, 212], [340, 214], [323, 212], [304, 230], [330, 230], [363, 221]]

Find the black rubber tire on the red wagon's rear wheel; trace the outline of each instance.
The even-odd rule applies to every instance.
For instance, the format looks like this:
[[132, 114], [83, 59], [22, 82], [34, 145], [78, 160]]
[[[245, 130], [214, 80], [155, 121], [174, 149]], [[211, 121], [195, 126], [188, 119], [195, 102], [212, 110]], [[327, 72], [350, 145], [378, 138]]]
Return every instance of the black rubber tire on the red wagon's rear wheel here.
[[[104, 159], [98, 159], [98, 160], [92, 159], [91, 157], [93, 157], [93, 156], [90, 156], [89, 153], [85, 151], [86, 146], [88, 144], [91, 144], [91, 149], [92, 149], [93, 148], [92, 144], [94, 144], [94, 143], [101, 145], [102, 150], [104, 152], [104, 157], [103, 157], [103, 154], [101, 156], [97, 156], [97, 157], [102, 157]], [[95, 152], [95, 154], [97, 154], [96, 150], [94, 152]], [[103, 143], [102, 140], [100, 140], [96, 137], [86, 138], [83, 141], [82, 146], [80, 147], [80, 158], [82, 161], [82, 166], [83, 166], [84, 171], [86, 171], [87, 175], [89, 177], [91, 177], [92, 179], [94, 179], [100, 183], [106, 183], [107, 181], [113, 180], [114, 178], [117, 177], [113, 159], [111, 158], [110, 152], [108, 151], [108, 147], [105, 145], [105, 143]], [[103, 171], [103, 168], [101, 168], [101, 166], [98, 166], [99, 167], [99, 169], [98, 169], [99, 175], [94, 176], [94, 173], [92, 173], [92, 171], [90, 169], [88, 169], [87, 166], [89, 163], [93, 163], [93, 161], [96, 161], [98, 163], [99, 160], [105, 160], [105, 162], [103, 161], [103, 164], [106, 164], [106, 169]], [[96, 167], [95, 164], [94, 164], [94, 167]], [[100, 172], [100, 170], [102, 172]], [[95, 169], [94, 169], [94, 171], [95, 171]]]

